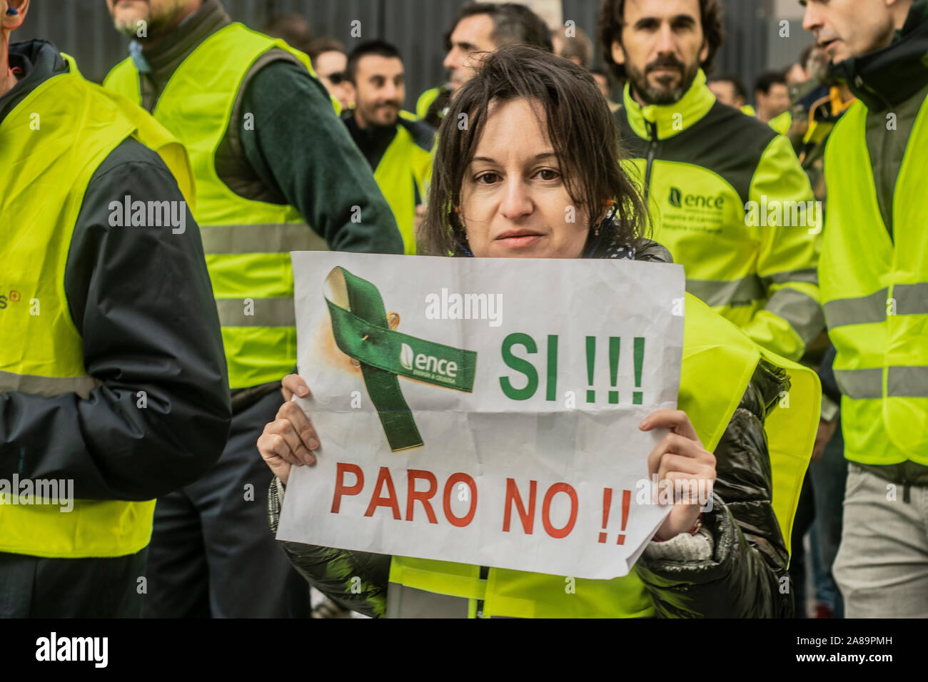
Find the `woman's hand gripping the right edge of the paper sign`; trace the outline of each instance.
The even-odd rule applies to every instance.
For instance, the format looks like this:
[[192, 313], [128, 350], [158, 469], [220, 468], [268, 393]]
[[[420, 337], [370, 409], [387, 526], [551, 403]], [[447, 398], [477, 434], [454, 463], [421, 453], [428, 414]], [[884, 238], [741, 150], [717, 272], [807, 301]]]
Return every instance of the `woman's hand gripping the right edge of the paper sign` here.
[[[669, 485], [674, 491], [674, 508], [654, 534], [658, 540], [669, 540], [689, 532], [699, 519], [702, 504], [711, 499], [715, 455], [702, 447], [690, 418], [682, 410], [651, 412], [638, 424], [638, 429], [670, 429], [648, 456], [648, 474], [657, 474], [658, 490]], [[703, 495], [706, 499], [701, 502]]]

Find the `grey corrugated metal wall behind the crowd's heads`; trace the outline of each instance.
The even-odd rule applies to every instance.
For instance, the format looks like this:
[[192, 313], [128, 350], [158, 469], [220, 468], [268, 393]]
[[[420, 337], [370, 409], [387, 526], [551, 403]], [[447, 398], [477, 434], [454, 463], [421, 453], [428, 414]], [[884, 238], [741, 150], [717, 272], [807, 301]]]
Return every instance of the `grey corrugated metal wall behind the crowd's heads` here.
[[[419, 93], [444, 78], [444, 37], [466, 0], [223, 0], [233, 19], [260, 29], [278, 12], [295, 11], [309, 19], [315, 35], [331, 35], [351, 48], [358, 40], [383, 38], [397, 45], [406, 60], [406, 108]], [[749, 83], [766, 67], [767, 17], [771, 0], [727, 0], [728, 44], [717, 59], [718, 71], [735, 71]], [[601, 0], [563, 0], [564, 19], [573, 19], [596, 43]], [[767, 8], [766, 8], [767, 7]], [[361, 38], [351, 37], [351, 22], [361, 20]], [[77, 58], [88, 78], [101, 80], [124, 58], [128, 41], [112, 29], [104, 0], [33, 0], [15, 39], [43, 37]], [[599, 58], [599, 45], [596, 46]]]

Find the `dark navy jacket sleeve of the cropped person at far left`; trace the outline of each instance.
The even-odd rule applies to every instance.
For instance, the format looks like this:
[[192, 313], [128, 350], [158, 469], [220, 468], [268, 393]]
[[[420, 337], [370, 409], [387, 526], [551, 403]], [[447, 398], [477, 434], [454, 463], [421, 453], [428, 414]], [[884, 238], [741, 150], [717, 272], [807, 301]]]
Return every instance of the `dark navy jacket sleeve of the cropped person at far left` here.
[[0, 394], [0, 477], [71, 479], [78, 498], [146, 500], [195, 481], [222, 453], [228, 376], [200, 229], [188, 209], [183, 233], [110, 226], [110, 202], [125, 196], [184, 200], [135, 140], [100, 164], [65, 291], [84, 367], [102, 385], [87, 399]]

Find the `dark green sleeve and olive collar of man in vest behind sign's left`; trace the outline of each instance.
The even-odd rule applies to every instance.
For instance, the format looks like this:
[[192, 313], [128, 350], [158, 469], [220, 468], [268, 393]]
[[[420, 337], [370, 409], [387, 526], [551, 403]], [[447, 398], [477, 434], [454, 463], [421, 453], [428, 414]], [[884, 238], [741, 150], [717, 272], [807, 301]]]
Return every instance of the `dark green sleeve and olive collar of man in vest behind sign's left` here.
[[[143, 46], [142, 105], [154, 109], [177, 67], [229, 23], [218, 0], [205, 0], [170, 36]], [[334, 251], [403, 252], [393, 212], [329, 93], [290, 53], [271, 50], [252, 65], [230, 121], [216, 170], [239, 196], [293, 206]]]

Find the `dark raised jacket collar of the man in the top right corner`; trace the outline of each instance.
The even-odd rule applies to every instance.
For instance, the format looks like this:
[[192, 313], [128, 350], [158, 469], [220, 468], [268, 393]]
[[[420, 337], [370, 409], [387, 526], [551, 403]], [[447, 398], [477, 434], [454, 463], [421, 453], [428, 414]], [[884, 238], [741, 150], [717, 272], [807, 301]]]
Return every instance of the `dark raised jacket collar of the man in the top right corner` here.
[[928, 0], [916, 0], [893, 42], [831, 65], [831, 75], [844, 81], [867, 109], [891, 109], [928, 84]]

